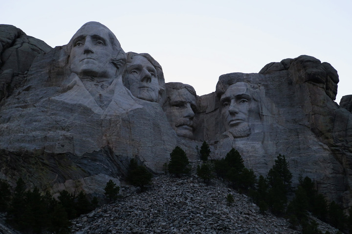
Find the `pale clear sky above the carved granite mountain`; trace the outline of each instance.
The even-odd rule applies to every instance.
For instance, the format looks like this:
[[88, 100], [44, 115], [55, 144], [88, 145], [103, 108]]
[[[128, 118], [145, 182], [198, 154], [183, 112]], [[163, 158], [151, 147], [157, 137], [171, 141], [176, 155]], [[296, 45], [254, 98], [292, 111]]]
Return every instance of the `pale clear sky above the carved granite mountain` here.
[[300, 55], [329, 62], [352, 94], [351, 0], [0, 0], [0, 23], [51, 47], [88, 21], [106, 25], [125, 52], [149, 53], [165, 82], [215, 91], [219, 76], [258, 73]]

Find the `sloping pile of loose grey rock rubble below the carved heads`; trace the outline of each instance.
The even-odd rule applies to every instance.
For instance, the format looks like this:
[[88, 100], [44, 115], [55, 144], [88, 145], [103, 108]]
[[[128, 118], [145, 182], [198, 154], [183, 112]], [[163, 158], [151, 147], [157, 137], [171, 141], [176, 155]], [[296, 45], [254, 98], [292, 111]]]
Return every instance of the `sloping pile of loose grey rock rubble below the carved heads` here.
[[[126, 193], [126, 188], [121, 190]], [[234, 197], [230, 206], [226, 202], [228, 194]], [[227, 188], [223, 182], [214, 179], [207, 186], [195, 175], [154, 177], [147, 192], [134, 193], [72, 221], [73, 234], [301, 233], [290, 229], [284, 218], [260, 214], [249, 197]], [[323, 233], [338, 231], [318, 223]]]

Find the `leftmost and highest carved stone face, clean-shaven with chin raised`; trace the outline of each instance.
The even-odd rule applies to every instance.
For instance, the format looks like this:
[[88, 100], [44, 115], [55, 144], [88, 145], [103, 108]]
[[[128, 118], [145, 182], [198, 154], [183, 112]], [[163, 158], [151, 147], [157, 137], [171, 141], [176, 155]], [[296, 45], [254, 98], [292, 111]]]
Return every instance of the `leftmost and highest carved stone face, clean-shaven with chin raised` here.
[[71, 72], [94, 78], [111, 78], [116, 75], [117, 68], [111, 63], [113, 48], [109, 32], [98, 24], [85, 24], [77, 31], [71, 39]]

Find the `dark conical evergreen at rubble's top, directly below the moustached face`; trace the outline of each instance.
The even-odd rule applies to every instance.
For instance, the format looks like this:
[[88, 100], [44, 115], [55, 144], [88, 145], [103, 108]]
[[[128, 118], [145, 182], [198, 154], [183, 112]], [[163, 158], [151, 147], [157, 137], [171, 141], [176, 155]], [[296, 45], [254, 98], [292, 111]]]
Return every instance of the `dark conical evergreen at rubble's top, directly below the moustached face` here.
[[191, 168], [188, 167], [189, 161], [186, 153], [178, 146], [170, 154], [169, 173], [180, 177], [182, 174], [188, 174]]

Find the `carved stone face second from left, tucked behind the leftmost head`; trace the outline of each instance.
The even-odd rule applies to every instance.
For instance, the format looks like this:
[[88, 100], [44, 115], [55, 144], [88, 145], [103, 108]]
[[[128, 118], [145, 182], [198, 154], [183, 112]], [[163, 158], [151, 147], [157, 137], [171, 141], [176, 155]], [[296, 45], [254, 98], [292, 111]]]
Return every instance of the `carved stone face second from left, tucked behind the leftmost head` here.
[[159, 94], [157, 72], [153, 64], [143, 56], [133, 56], [127, 63], [128, 88], [136, 98], [156, 102]]

